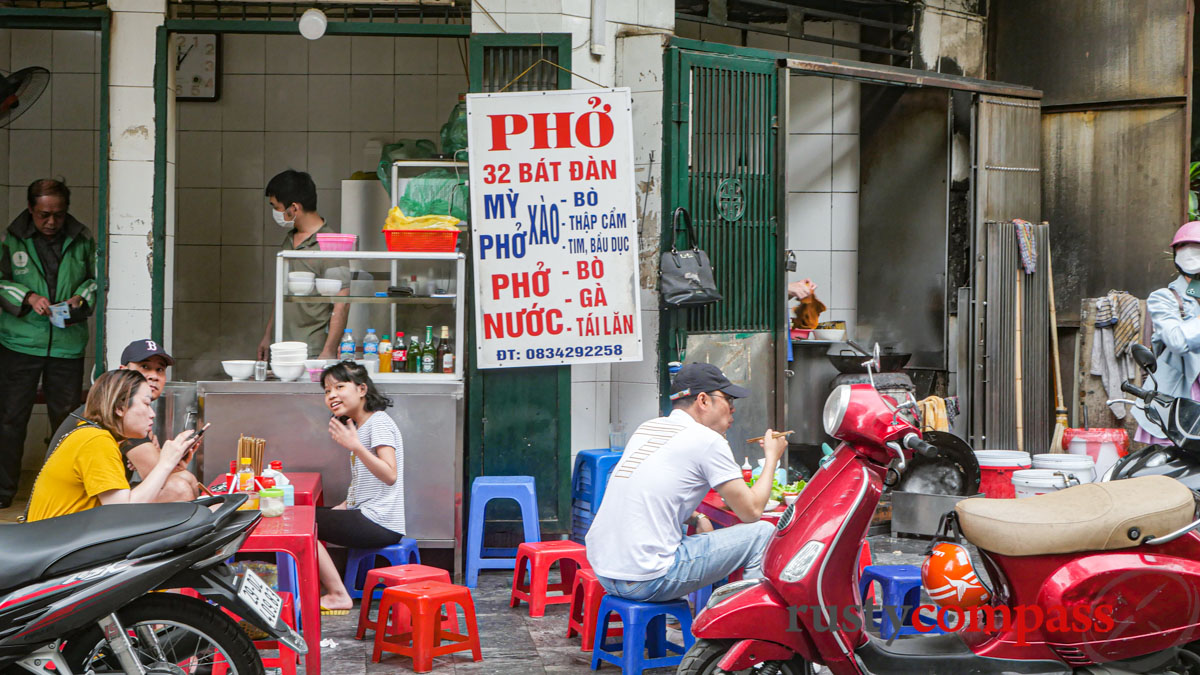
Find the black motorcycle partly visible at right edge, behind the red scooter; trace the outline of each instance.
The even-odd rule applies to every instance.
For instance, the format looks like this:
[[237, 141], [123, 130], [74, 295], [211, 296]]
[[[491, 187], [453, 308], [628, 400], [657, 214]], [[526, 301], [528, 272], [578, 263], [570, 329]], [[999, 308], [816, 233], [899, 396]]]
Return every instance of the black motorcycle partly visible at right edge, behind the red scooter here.
[[[1121, 384], [1121, 390], [1132, 394], [1136, 400], [1124, 402], [1136, 406], [1146, 419], [1156, 425], [1174, 446], [1150, 446], [1142, 450], [1129, 453], [1117, 460], [1102, 480], [1118, 480], [1135, 476], [1169, 476], [1193, 490], [1200, 490], [1200, 402], [1187, 398], [1176, 398], [1157, 390], [1154, 353], [1142, 345], [1130, 350], [1134, 362], [1146, 372], [1153, 388], [1144, 389], [1132, 382]], [[1109, 401], [1110, 404], [1117, 401]]]

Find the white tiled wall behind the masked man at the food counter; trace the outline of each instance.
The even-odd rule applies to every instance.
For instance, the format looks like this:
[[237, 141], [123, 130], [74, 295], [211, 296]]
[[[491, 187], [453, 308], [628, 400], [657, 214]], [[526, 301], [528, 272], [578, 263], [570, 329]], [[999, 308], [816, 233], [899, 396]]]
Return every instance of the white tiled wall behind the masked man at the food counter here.
[[[263, 190], [307, 171], [335, 227], [341, 181], [374, 172], [368, 141], [428, 138], [468, 88], [456, 38], [226, 35], [221, 100], [178, 104], [174, 377], [221, 375], [254, 353], [283, 239]], [[170, 269], [170, 268], [169, 268]]]

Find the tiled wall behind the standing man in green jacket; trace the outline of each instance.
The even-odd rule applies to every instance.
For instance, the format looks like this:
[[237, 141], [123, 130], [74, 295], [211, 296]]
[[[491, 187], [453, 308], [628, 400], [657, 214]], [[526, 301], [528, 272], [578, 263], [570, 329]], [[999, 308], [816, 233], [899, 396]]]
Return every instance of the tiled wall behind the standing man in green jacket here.
[[[4, 207], [0, 238], [7, 235], [8, 223], [25, 209], [25, 189], [40, 178], [66, 181], [71, 189], [71, 215], [95, 234], [100, 34], [0, 29], [0, 71], [14, 72], [28, 66], [49, 70], [50, 83], [19, 119], [0, 129], [0, 205]], [[85, 353], [90, 372], [91, 345]], [[25, 470], [41, 466], [49, 431], [46, 406], [35, 406], [25, 437]]]

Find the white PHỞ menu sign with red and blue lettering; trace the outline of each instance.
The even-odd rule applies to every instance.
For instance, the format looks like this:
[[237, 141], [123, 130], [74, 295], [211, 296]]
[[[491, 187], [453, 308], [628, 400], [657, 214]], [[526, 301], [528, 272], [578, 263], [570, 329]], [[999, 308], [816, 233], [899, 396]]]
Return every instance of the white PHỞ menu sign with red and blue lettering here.
[[479, 368], [642, 359], [628, 88], [468, 94]]

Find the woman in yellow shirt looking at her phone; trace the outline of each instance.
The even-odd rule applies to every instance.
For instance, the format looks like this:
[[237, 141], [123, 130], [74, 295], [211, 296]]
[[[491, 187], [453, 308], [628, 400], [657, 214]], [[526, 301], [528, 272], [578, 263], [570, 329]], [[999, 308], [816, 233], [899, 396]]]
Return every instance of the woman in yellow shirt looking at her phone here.
[[162, 446], [158, 462], [130, 489], [120, 441], [154, 428], [150, 386], [136, 370], [112, 370], [88, 393], [84, 417], [46, 460], [29, 497], [28, 521], [78, 513], [100, 504], [149, 503], [191, 446], [187, 430]]

